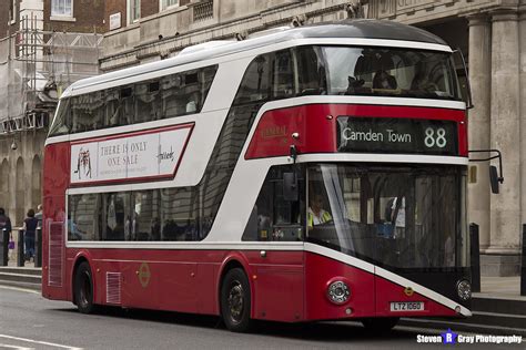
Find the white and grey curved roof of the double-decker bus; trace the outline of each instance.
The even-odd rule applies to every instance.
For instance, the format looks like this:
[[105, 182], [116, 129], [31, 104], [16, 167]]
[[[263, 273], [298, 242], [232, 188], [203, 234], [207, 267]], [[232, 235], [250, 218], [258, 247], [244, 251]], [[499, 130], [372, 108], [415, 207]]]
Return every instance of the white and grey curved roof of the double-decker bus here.
[[222, 44], [209, 47], [205, 50], [194, 50], [185, 54], [179, 54], [168, 60], [141, 64], [138, 66], [132, 66], [120, 71], [83, 79], [71, 84], [64, 91], [64, 94], [68, 95], [74, 90], [81, 90], [101, 83], [109, 83], [121, 79], [132, 78], [182, 64], [205, 61], [218, 56], [234, 54], [275, 43], [299, 39], [327, 38], [398, 40], [424, 42], [447, 47], [447, 43], [444, 40], [423, 29], [407, 24], [396, 23], [393, 21], [357, 19], [338, 22], [323, 22], [317, 24], [291, 28], [287, 30], [282, 30], [275, 33], [243, 41], [223, 41]]

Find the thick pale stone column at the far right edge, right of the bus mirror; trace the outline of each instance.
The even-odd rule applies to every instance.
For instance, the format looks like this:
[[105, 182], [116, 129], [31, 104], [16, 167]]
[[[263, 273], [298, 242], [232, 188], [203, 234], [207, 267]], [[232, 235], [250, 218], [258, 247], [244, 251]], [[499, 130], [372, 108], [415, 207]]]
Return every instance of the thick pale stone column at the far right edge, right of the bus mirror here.
[[492, 196], [486, 254], [498, 258], [497, 275], [518, 274], [520, 233], [519, 39], [516, 10], [492, 13], [492, 147], [503, 152], [504, 185]]

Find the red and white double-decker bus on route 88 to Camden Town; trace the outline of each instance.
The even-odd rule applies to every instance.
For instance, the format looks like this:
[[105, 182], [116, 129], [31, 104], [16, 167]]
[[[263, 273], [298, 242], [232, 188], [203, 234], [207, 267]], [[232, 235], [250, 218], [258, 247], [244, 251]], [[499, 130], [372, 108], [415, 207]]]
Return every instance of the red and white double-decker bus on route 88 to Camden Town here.
[[42, 295], [251, 321], [469, 316], [452, 49], [354, 20], [79, 81], [45, 142]]

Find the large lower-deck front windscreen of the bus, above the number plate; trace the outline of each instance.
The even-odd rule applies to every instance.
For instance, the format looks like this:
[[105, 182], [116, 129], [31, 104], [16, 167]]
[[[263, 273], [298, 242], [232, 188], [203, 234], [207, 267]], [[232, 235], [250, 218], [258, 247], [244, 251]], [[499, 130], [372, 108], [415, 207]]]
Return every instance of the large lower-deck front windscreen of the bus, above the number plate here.
[[307, 178], [307, 241], [390, 270], [468, 266], [462, 168], [322, 164]]

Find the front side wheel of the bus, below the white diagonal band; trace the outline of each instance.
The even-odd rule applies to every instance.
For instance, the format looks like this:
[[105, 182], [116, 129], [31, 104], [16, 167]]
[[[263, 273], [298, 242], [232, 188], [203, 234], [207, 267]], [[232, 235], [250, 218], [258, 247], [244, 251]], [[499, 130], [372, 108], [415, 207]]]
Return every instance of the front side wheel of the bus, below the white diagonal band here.
[[251, 291], [249, 278], [241, 268], [226, 272], [221, 285], [221, 316], [226, 328], [246, 332], [251, 326]]

